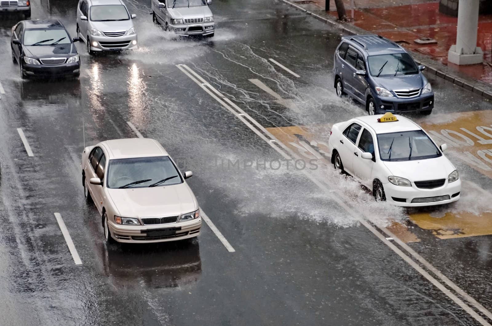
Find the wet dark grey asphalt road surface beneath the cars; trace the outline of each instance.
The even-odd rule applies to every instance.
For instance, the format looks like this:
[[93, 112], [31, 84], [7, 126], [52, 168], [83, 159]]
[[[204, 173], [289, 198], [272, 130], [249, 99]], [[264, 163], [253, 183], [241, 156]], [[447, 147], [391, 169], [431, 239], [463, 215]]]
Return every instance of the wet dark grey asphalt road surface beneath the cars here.
[[[32, 18], [59, 18], [75, 36], [76, 1], [31, 3]], [[265, 128], [314, 125], [327, 139], [325, 124], [364, 114], [335, 96], [337, 33], [275, 1], [215, 0], [215, 37], [176, 39], [154, 27], [149, 1], [126, 3], [138, 15], [140, 48], [90, 57], [77, 44], [77, 81], [22, 81], [10, 59], [16, 21], [1, 21], [1, 325], [479, 325], [302, 171], [269, 168], [281, 159], [277, 151], [176, 66], [193, 69]], [[431, 81], [439, 103], [431, 117], [492, 108]], [[127, 122], [157, 139], [193, 170], [190, 187], [235, 252], [205, 224], [193, 241], [106, 246], [98, 212], [83, 196], [82, 121], [86, 144], [135, 137]], [[267, 164], [241, 165], [249, 160]], [[491, 189], [490, 179], [453, 162]], [[313, 173], [375, 224], [407, 221], [405, 212], [366, 200], [357, 185], [321, 168]], [[491, 236], [415, 232], [422, 241], [410, 246], [492, 309]]]

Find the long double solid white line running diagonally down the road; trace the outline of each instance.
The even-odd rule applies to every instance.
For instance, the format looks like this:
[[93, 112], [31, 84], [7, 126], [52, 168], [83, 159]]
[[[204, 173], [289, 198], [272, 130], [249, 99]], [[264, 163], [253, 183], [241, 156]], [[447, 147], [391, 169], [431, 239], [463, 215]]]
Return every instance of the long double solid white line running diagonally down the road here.
[[[264, 127], [258, 127], [261, 126], [258, 122], [256, 122], [253, 118], [251, 118], [249, 115], [245, 114], [245, 112], [242, 109], [239, 109], [238, 111], [235, 111], [232, 109], [238, 108], [237, 105], [228, 105], [224, 102], [226, 100], [228, 103], [232, 102], [230, 100], [227, 100], [225, 98], [222, 100], [221, 98], [217, 98], [215, 94], [206, 88], [204, 85], [202, 85], [203, 78], [199, 78], [202, 82], [194, 78], [188, 71], [191, 69], [189, 67], [186, 67], [186, 70], [184, 70], [184, 66], [186, 65], [176, 65], [180, 70], [182, 70], [191, 80], [193, 80], [196, 84], [198, 84], [202, 89], [204, 89], [209, 95], [211, 95], [215, 100], [217, 100], [225, 109], [236, 115], [242, 122], [245, 123], [245, 125], [251, 129], [253, 132], [258, 134], [260, 138], [262, 138], [264, 141], [266, 141], [272, 148], [274, 148], [280, 155], [283, 157], [286, 157], [288, 160], [290, 159], [295, 159], [299, 160], [301, 159], [295, 152], [293, 152], [290, 148], [288, 148], [285, 144], [280, 142], [271, 132], [266, 130]], [[193, 72], [193, 75], [197, 75], [196, 72]], [[251, 81], [252, 82], [252, 81]], [[254, 83], [257, 86], [259, 86], [259, 83]], [[261, 83], [263, 84], [263, 83]], [[208, 84], [209, 88], [213, 88]], [[260, 87], [260, 86], [259, 86]], [[261, 87], [262, 88], [262, 87]], [[268, 88], [268, 87], [267, 87]], [[272, 91], [273, 92], [273, 91]], [[275, 96], [274, 96], [275, 97]], [[239, 114], [243, 113], [245, 114], [244, 116], [240, 116]], [[249, 120], [249, 121], [246, 121]], [[251, 123], [250, 123], [251, 122]], [[258, 129], [254, 128], [253, 125], [257, 126]], [[260, 132], [261, 130], [261, 132]], [[275, 141], [272, 141], [275, 140]], [[278, 145], [278, 146], [277, 146]], [[283, 149], [283, 150], [282, 150]], [[370, 219], [367, 217], [364, 211], [359, 210], [358, 208], [354, 206], [350, 206], [347, 202], [345, 202], [343, 199], [339, 198], [338, 196], [335, 196], [332, 191], [328, 189], [328, 185], [326, 184], [326, 181], [323, 180], [321, 182], [318, 180], [312, 173], [307, 172], [306, 170], [302, 170], [301, 173], [304, 173], [309, 180], [311, 180], [314, 184], [316, 184], [329, 198], [337, 202], [347, 213], [349, 213], [351, 216], [356, 218], [363, 226], [365, 226], [369, 231], [371, 231], [378, 239], [380, 239], [386, 246], [388, 246], [393, 252], [395, 252], [398, 256], [400, 256], [404, 261], [406, 261], [410, 266], [412, 266], [417, 272], [419, 272], [424, 278], [426, 278], [431, 284], [433, 284], [437, 289], [439, 289], [442, 293], [444, 293], [446, 296], [448, 296], [453, 302], [455, 302], [458, 306], [460, 306], [466, 313], [468, 313], [471, 317], [473, 317], [477, 322], [479, 322], [481, 325], [487, 325], [491, 326], [489, 322], [487, 322], [481, 315], [479, 315], [475, 310], [473, 310], [472, 307], [486, 315], [487, 317], [492, 316], [492, 314], [485, 309], [480, 303], [478, 303], [475, 299], [473, 299], [469, 294], [465, 293], [463, 290], [461, 290], [460, 287], [458, 287], [456, 284], [454, 284], [451, 280], [445, 278], [445, 276], [437, 270], [437, 268], [433, 267], [431, 263], [426, 261], [424, 258], [422, 258], [420, 255], [415, 253], [413, 250], [411, 250], [410, 247], [408, 247], [406, 244], [404, 244], [396, 235], [394, 235], [391, 231], [386, 229], [384, 226], [378, 226], [377, 223], [374, 223], [370, 221]], [[387, 234], [387, 236], [383, 235], [379, 230], [377, 230], [373, 225], [375, 225], [377, 228], [382, 230]], [[446, 288], [442, 283], [437, 281], [435, 277], [433, 277], [429, 272], [427, 272], [425, 269], [423, 269], [418, 263], [416, 263], [409, 255], [405, 254], [402, 250], [400, 250], [399, 247], [397, 247], [395, 244], [393, 244], [390, 240], [387, 240], [386, 237], [391, 237], [393, 238], [392, 241], [397, 242], [401, 248], [403, 248], [410, 256], [412, 256], [414, 259], [417, 261], [421, 262], [424, 264], [426, 268], [432, 271], [434, 275], [439, 278], [443, 283], [447, 284], [450, 286], [456, 293], [459, 293], [466, 301], [468, 301], [468, 304], [466, 304], [460, 297], [452, 293], [448, 288]], [[424, 263], [425, 262], [425, 263]], [[491, 317], [489, 317], [491, 318]], [[492, 320], [492, 318], [491, 318]]]

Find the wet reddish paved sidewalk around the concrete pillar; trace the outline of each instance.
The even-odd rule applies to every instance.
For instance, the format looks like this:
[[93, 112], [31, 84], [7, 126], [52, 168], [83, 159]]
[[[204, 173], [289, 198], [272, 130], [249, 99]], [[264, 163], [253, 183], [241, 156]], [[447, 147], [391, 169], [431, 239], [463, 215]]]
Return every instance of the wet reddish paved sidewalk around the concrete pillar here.
[[[357, 33], [369, 32], [388, 37], [414, 51], [412, 55], [423, 64], [432, 65], [433, 61], [436, 67], [440, 67], [440, 70], [446, 73], [462, 77], [463, 81], [479, 81], [482, 89], [492, 90], [492, 15], [479, 17], [477, 42], [484, 51], [485, 62], [480, 65], [459, 66], [448, 63], [447, 60], [449, 48], [456, 43], [458, 18], [440, 13], [438, 1], [343, 1], [347, 16], [352, 17], [353, 15], [354, 17], [354, 22], [341, 23], [347, 29]], [[289, 2], [332, 22], [338, 18], [334, 0], [330, 0], [330, 12], [328, 13], [325, 11], [325, 0], [289, 0]], [[352, 7], [353, 4], [356, 8]], [[415, 42], [416, 39], [425, 37], [434, 39], [437, 43], [418, 44]], [[425, 60], [426, 57], [431, 58], [432, 61]]]

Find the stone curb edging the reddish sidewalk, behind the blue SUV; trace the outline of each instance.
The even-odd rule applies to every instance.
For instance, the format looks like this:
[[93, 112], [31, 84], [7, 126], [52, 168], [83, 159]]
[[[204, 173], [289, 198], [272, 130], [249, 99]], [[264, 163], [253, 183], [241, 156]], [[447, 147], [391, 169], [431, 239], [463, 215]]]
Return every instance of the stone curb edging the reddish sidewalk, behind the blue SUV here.
[[[301, 6], [299, 6], [295, 3], [290, 2], [289, 0], [280, 0], [280, 1], [290, 5], [291, 7], [296, 8], [298, 10], [301, 10], [302, 12], [305, 12], [307, 15], [310, 15], [310, 16], [314, 17], [315, 19], [317, 19], [317, 20], [319, 20], [319, 21], [321, 21], [327, 25], [330, 25], [332, 28], [340, 31], [341, 33], [348, 34], [348, 35], [355, 35], [355, 34], [360, 34], [360, 33], [369, 33], [367, 31], [359, 29], [357, 27], [354, 27], [352, 29], [351, 27], [344, 26], [343, 24], [340, 24], [336, 20], [336, 18], [332, 19], [330, 16], [329, 16], [329, 18], [325, 18], [325, 17], [322, 17], [318, 14], [307, 11], [306, 9], [302, 8]], [[358, 30], [360, 30], [360, 31], [358, 31]], [[407, 50], [407, 51], [412, 52], [412, 54], [415, 53], [415, 51], [412, 51], [412, 50]], [[417, 63], [417, 65], [422, 64], [422, 61], [416, 60], [415, 56], [413, 56], [413, 57], [414, 57], [414, 61]], [[452, 73], [446, 72], [444, 70], [439, 69], [438, 67], [434, 67], [434, 66], [428, 65], [428, 64], [426, 65], [426, 70], [431, 75], [436, 75], [437, 77], [440, 77], [444, 80], [447, 80], [447, 81], [453, 83], [454, 85], [456, 85], [458, 87], [464, 88], [465, 90], [468, 90], [468, 91], [471, 91], [475, 94], [478, 94], [487, 100], [492, 100], [492, 90], [485, 90], [484, 87], [480, 83], [478, 83], [477, 81], [464, 80], [465, 78], [463, 78], [463, 77], [456, 76]]]

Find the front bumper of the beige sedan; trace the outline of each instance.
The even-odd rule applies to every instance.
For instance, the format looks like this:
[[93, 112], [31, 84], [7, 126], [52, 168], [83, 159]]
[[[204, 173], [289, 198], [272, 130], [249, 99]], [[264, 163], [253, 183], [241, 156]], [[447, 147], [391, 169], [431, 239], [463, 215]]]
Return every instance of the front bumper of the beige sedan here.
[[[200, 234], [202, 227], [202, 218], [180, 223], [171, 223], [165, 225], [140, 225], [129, 226], [116, 224], [111, 219], [108, 219], [108, 228], [111, 236], [118, 242], [125, 243], [153, 243], [176, 241], [182, 239], [193, 238]], [[179, 228], [179, 229], [176, 229]], [[162, 232], [165, 230], [176, 229], [175, 234], [150, 234], [149, 231]]]

